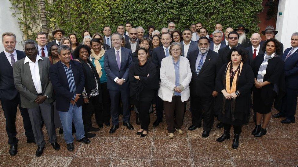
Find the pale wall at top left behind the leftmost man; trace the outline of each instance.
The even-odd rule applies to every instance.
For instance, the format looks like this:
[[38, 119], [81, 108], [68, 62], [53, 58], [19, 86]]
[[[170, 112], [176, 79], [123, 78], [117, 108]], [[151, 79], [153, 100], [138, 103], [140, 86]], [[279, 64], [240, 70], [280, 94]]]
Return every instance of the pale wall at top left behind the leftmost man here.
[[10, 9], [12, 7], [9, 0], [1, 0], [1, 7], [0, 7], [0, 35], [1, 35], [1, 42], [0, 42], [0, 51], [4, 50], [2, 44], [2, 33], [5, 32], [12, 32], [16, 34], [16, 50], [24, 50], [22, 45], [20, 44], [23, 41], [23, 33], [20, 30], [19, 22], [17, 17], [12, 17], [11, 14], [15, 11]]

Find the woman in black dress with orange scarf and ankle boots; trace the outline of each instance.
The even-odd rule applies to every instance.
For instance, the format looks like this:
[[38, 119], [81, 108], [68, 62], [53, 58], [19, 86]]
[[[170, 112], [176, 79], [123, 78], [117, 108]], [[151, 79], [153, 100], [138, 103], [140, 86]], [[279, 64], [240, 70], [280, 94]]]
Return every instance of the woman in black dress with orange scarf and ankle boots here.
[[231, 48], [227, 56], [229, 62], [223, 65], [216, 77], [216, 90], [219, 93], [215, 112], [218, 120], [224, 124], [224, 134], [216, 141], [230, 139], [230, 129], [233, 125], [234, 149], [238, 148], [242, 125], [248, 123], [250, 114], [253, 71], [248, 64], [243, 63], [246, 57], [242, 49]]

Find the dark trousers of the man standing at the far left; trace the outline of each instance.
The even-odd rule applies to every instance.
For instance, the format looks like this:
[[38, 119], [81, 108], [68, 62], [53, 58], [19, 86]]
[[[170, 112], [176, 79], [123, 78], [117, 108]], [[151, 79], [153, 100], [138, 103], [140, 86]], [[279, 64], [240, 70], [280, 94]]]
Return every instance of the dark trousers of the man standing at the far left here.
[[25, 135], [27, 140], [34, 141], [34, 134], [27, 109], [21, 107], [20, 96], [12, 100], [1, 100], [2, 109], [5, 116], [5, 128], [8, 135], [8, 144], [16, 145], [19, 141], [16, 138], [16, 112], [19, 105], [23, 117]]

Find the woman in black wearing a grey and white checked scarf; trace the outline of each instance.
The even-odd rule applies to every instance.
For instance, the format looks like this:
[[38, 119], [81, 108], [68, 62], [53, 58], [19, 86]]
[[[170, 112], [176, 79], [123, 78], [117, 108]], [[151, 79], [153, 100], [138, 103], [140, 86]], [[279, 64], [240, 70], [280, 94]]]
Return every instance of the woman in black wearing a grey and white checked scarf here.
[[[251, 64], [255, 76], [253, 87], [253, 110], [256, 111], [256, 127], [252, 134], [261, 137], [266, 134], [266, 127], [271, 118], [271, 107], [281, 88], [284, 78], [284, 63], [276, 53], [280, 53], [278, 40], [271, 38], [263, 45], [264, 54], [259, 54]], [[263, 125], [261, 120], [263, 117]]]

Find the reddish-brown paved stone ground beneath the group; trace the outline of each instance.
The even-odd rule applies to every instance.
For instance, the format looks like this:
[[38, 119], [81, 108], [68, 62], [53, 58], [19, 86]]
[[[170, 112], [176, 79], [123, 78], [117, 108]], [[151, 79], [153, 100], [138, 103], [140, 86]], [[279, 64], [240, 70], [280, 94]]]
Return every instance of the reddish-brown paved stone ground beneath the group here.
[[[1, 108], [0, 108], [1, 109]], [[276, 111], [273, 111], [276, 113]], [[121, 119], [120, 119], [121, 120]], [[37, 146], [27, 144], [22, 117], [17, 115], [16, 127], [19, 138], [18, 154], [11, 157], [5, 131], [3, 110], [0, 111], [0, 166], [296, 166], [298, 165], [298, 123], [281, 124], [282, 119], [271, 118], [267, 134], [255, 138], [250, 133], [254, 123], [243, 126], [239, 148], [231, 148], [233, 136], [222, 143], [216, 141], [223, 129], [214, 127], [208, 138], [202, 138], [202, 128], [186, 130], [191, 125], [187, 112], [182, 130], [183, 135], [175, 133], [174, 139], [167, 137], [165, 120], [158, 127], [152, 127], [155, 116], [151, 114], [149, 134], [140, 138], [139, 128], [132, 113], [131, 123], [135, 130], [128, 130], [120, 122], [119, 129], [109, 134], [110, 127], [104, 126], [91, 138], [90, 144], [74, 142], [75, 149], [67, 151], [63, 135], [58, 134], [61, 145], [55, 151], [47, 142], [41, 157], [35, 157]], [[93, 126], [96, 123], [93, 119]], [[231, 131], [232, 132], [232, 131]], [[45, 138], [48, 140], [46, 130]], [[232, 134], [232, 133], [231, 133]]]

